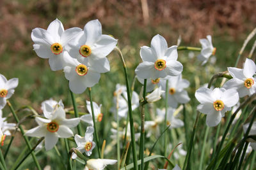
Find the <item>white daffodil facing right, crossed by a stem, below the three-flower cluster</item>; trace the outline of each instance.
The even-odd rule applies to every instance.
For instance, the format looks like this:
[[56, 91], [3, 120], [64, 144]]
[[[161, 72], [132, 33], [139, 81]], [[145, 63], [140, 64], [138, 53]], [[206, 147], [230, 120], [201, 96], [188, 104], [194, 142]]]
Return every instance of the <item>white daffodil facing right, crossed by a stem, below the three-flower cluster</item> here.
[[[101, 122], [102, 117], [103, 117], [103, 114], [100, 111], [102, 104], [100, 104], [100, 106], [98, 106], [98, 104], [95, 103], [95, 102], [92, 102], [92, 104], [93, 104], [93, 113], [94, 113], [94, 116], [95, 116], [95, 120]], [[90, 101], [86, 101], [86, 107], [87, 107], [87, 110], [89, 111], [90, 114], [83, 115], [80, 119], [83, 122], [86, 122], [90, 125], [93, 125], [92, 108], [91, 108]]]

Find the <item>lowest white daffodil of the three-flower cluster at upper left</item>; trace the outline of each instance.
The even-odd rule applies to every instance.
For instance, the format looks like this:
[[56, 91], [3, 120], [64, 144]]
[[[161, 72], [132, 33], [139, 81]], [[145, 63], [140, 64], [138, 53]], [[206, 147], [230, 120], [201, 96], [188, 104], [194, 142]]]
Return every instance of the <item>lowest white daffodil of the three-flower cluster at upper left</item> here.
[[81, 94], [87, 87], [93, 87], [100, 80], [100, 73], [87, 62], [81, 64], [64, 52], [66, 66], [63, 68], [65, 78], [69, 80], [69, 88], [75, 94]]

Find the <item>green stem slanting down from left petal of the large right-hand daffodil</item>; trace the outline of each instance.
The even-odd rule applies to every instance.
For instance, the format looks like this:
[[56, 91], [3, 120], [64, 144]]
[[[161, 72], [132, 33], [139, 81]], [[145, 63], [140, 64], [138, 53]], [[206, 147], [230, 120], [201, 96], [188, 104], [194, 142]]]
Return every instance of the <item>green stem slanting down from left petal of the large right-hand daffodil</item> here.
[[193, 132], [191, 134], [191, 138], [190, 138], [190, 142], [189, 142], [189, 147], [188, 147], [188, 153], [186, 155], [186, 159], [185, 159], [185, 162], [184, 162], [183, 170], [185, 168], [189, 169], [190, 157], [191, 157], [191, 152], [192, 152], [192, 148], [193, 148], [193, 141], [194, 141], [195, 131], [196, 131], [196, 127], [197, 127], [197, 123], [198, 123], [199, 117], [200, 117], [200, 112], [197, 111], [196, 120], [195, 120], [195, 124], [194, 124], [194, 127], [193, 127]]

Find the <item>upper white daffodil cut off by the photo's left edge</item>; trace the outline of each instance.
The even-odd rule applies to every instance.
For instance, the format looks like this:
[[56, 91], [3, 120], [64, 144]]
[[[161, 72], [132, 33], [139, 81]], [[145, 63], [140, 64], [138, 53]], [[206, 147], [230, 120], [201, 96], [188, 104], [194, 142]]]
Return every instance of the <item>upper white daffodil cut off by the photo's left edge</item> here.
[[18, 78], [7, 80], [3, 74], [0, 74], [0, 110], [4, 108], [6, 99], [12, 97], [18, 83]]

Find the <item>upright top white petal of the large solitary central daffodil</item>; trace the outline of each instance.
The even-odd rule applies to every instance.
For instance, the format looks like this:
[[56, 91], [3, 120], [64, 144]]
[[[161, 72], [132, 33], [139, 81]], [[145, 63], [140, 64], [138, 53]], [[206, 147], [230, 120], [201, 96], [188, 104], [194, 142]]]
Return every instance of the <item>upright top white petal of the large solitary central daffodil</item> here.
[[156, 53], [157, 58], [159, 58], [164, 56], [168, 46], [163, 36], [157, 34], [151, 40], [151, 48]]

